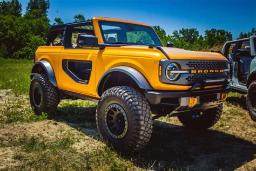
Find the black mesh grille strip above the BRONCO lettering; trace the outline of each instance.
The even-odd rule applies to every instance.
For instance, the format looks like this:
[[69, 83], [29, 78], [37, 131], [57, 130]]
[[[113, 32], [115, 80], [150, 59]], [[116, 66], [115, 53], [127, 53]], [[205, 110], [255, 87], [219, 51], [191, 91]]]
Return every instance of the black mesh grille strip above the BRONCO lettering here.
[[224, 70], [227, 68], [226, 61], [188, 61], [186, 65], [192, 70]]

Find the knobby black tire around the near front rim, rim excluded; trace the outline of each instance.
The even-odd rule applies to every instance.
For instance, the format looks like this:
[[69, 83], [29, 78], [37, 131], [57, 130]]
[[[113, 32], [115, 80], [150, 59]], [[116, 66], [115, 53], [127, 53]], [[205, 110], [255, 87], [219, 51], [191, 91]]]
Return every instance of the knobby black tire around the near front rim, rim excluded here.
[[[105, 124], [105, 110], [110, 104], [118, 104], [127, 114], [128, 128], [123, 138], [113, 138]], [[153, 121], [150, 106], [142, 93], [127, 86], [106, 90], [98, 101], [96, 111], [97, 127], [107, 145], [117, 151], [134, 153], [150, 141]]]

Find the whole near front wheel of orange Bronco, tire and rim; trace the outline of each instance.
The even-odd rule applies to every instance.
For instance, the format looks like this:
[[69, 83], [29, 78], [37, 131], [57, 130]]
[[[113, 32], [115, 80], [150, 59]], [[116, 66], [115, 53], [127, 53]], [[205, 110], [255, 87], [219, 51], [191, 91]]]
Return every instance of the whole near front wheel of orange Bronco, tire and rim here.
[[131, 87], [106, 90], [98, 102], [96, 121], [104, 141], [118, 151], [137, 152], [150, 141], [153, 126], [149, 104]]

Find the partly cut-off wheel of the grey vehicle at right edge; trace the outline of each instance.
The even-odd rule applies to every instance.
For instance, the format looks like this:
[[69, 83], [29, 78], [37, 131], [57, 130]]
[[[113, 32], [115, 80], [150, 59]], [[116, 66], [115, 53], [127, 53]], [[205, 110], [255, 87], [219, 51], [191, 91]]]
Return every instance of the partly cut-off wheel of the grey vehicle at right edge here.
[[250, 117], [253, 121], [256, 121], [256, 81], [253, 81], [248, 88], [246, 105]]

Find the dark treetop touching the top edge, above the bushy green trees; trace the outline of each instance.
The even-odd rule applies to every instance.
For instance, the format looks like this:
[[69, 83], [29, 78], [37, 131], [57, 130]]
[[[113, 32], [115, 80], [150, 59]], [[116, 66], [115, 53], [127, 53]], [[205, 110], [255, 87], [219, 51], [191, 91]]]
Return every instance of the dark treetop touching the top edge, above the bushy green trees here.
[[33, 10], [41, 10], [42, 15], [47, 15], [49, 8], [49, 0], [30, 0], [28, 6], [26, 6], [26, 13], [29, 13]]

